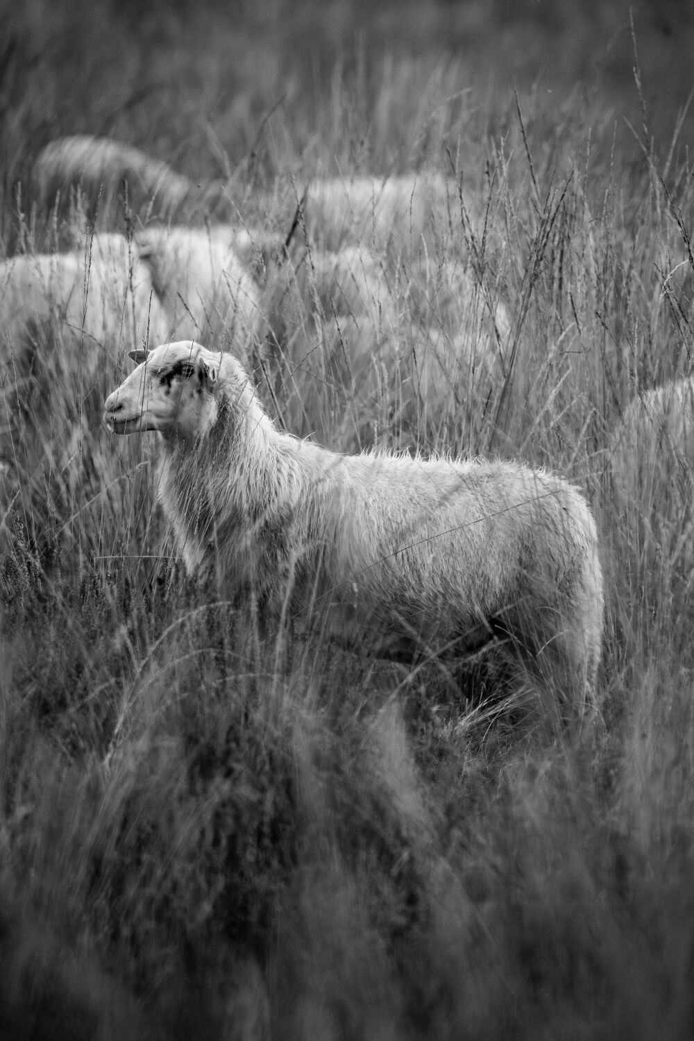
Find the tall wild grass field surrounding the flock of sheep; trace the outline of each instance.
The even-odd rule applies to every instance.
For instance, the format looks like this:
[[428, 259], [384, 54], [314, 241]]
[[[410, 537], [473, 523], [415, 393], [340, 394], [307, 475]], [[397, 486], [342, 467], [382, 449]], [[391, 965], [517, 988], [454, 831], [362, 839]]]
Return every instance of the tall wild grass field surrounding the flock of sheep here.
[[[226, 179], [233, 205], [216, 217], [269, 232], [286, 232], [316, 173], [454, 183], [458, 204], [423, 235], [401, 227], [383, 245], [366, 229], [357, 246], [405, 352], [422, 328], [412, 293], [428, 334], [449, 331], [452, 261], [477, 287], [470, 313], [504, 303], [510, 328], [489, 347], [502, 375], [484, 395], [432, 408], [391, 374], [357, 409], [301, 372], [274, 397], [254, 375], [289, 430], [336, 450], [499, 454], [585, 489], [608, 592], [600, 718], [557, 732], [436, 668], [317, 638], [288, 661], [259, 645], [248, 612], [176, 561], [154, 437], [101, 426], [133, 345], [100, 345], [94, 366], [95, 345], [57, 320], [24, 354], [3, 331], [0, 1034], [691, 1037], [694, 460], [654, 501], [612, 465], [628, 403], [691, 371], [694, 180], [676, 116], [651, 130], [635, 86], [627, 136], [643, 148], [626, 160], [599, 92], [558, 106], [475, 85], [455, 54], [434, 56], [437, 40], [374, 56], [357, 39], [326, 75], [289, 60], [310, 6], [286, 50], [279, 3], [238, 4], [237, 34], [201, 16], [185, 47], [166, 5], [136, 32], [134, 14], [104, 2], [99, 28], [73, 6], [54, 24], [27, 6], [8, 37], [8, 255], [88, 249], [74, 200], [72, 218], [65, 199], [32, 206], [51, 130], [151, 142], [190, 177]], [[261, 16], [277, 24], [259, 81]], [[98, 224], [155, 215], [115, 199]], [[325, 328], [299, 312], [294, 357]]]

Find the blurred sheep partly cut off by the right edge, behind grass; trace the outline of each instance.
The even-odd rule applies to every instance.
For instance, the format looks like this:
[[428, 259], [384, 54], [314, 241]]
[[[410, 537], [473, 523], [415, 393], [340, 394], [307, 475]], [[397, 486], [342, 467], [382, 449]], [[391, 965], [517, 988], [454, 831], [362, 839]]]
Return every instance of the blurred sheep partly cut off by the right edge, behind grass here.
[[694, 378], [638, 395], [611, 443], [614, 507], [644, 581], [659, 595], [692, 592]]

